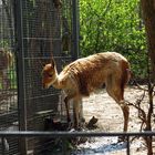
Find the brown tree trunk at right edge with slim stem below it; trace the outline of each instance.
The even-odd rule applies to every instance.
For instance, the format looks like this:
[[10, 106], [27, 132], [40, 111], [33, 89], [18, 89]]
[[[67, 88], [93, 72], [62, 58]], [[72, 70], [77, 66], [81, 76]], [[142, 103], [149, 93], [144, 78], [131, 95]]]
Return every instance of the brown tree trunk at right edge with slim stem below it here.
[[[141, 0], [143, 19], [145, 23], [148, 55], [151, 59], [152, 78], [148, 84], [149, 108], [147, 114], [146, 130], [152, 131], [152, 114], [153, 114], [153, 90], [151, 81], [155, 83], [155, 0]], [[149, 74], [149, 73], [148, 73]], [[153, 155], [152, 136], [145, 138], [147, 145], [147, 155]]]

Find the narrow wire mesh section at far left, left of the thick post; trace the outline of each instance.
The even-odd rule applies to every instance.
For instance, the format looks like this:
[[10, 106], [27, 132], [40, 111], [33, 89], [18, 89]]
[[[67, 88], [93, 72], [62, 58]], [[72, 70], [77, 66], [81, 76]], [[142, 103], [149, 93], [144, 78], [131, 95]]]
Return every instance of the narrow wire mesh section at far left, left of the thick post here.
[[[0, 131], [19, 128], [13, 1], [0, 0]], [[0, 146], [3, 141], [0, 141]], [[19, 152], [18, 138], [8, 138], [9, 152]], [[9, 153], [8, 152], [8, 153]], [[0, 147], [2, 154], [2, 147]]]

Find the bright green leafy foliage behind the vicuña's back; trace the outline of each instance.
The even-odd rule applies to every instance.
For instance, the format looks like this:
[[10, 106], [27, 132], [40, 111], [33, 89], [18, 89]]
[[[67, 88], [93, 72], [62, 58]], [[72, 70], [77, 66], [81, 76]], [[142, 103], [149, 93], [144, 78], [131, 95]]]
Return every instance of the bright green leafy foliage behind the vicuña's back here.
[[145, 29], [140, 0], [80, 0], [81, 54], [115, 51], [134, 74], [146, 75]]

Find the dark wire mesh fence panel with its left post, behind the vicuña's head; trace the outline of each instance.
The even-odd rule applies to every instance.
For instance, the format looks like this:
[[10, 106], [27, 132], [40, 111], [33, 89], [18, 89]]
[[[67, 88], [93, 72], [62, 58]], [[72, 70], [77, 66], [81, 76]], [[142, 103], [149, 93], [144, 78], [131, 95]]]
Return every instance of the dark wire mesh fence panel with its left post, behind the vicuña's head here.
[[[76, 59], [78, 46], [74, 0], [17, 0], [16, 31], [18, 42], [19, 122], [21, 131], [44, 131], [46, 117], [61, 116], [60, 91], [43, 90], [41, 72], [53, 54], [59, 71]], [[21, 154], [40, 154], [50, 143], [21, 138]]]

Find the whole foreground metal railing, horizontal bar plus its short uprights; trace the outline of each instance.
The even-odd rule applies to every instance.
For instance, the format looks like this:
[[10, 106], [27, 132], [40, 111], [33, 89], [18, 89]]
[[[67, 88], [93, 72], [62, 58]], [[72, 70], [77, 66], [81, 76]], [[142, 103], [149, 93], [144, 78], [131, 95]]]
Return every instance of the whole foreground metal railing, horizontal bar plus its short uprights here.
[[[143, 132], [143, 133], [102, 133], [102, 132], [0, 132], [0, 137], [3, 140], [2, 155], [6, 154], [6, 144], [4, 140], [7, 137], [40, 137], [40, 138], [61, 138], [62, 141], [62, 148], [59, 152], [61, 155], [71, 155], [71, 152], [66, 148], [66, 140], [68, 138], [75, 138], [75, 137], [113, 137], [113, 136], [125, 136], [126, 137], [126, 155], [131, 155], [131, 143], [130, 137], [147, 137], [147, 136], [155, 136], [155, 132]], [[52, 152], [42, 153], [41, 155], [51, 155]]]

